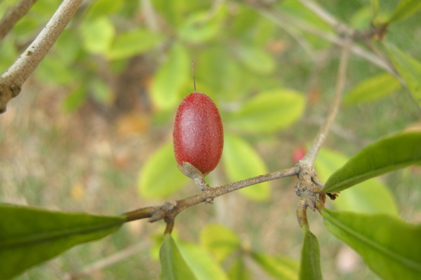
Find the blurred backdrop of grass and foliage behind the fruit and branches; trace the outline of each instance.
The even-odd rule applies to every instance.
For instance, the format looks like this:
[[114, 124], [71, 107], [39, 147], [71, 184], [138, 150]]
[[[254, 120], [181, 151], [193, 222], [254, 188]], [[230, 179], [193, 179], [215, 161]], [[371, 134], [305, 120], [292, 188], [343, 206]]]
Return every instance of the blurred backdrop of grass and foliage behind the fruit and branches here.
[[[16, 2], [1, 1], [0, 15]], [[38, 1], [4, 38], [1, 72], [60, 3]], [[396, 7], [393, 0], [316, 3], [358, 30], [382, 22]], [[383, 40], [420, 59], [420, 24], [421, 13], [394, 22]], [[214, 99], [225, 126], [224, 154], [207, 177], [210, 186], [293, 166], [323, 123], [335, 90], [340, 48], [323, 36], [338, 34], [300, 1], [83, 1], [0, 116], [1, 202], [118, 215], [195, 195], [196, 187], [175, 165], [171, 145], [175, 110], [193, 91], [192, 61], [197, 90]], [[370, 43], [387, 57], [380, 42]], [[344, 102], [316, 162], [319, 176], [326, 181], [375, 139], [420, 130], [420, 117], [394, 76], [350, 55]], [[420, 167], [410, 167], [368, 181], [370, 188], [344, 191], [328, 207], [420, 223], [420, 182]], [[300, 259], [295, 183], [262, 183], [187, 209], [175, 222], [175, 236], [199, 244], [208, 225], [225, 225], [239, 236], [243, 269], [250, 275], [231, 279], [276, 279], [247, 253]], [[330, 235], [319, 214], [309, 213], [309, 220], [325, 279], [378, 279]], [[158, 279], [163, 229], [162, 221], [128, 223], [18, 279]], [[229, 270], [229, 260], [222, 267]]]

